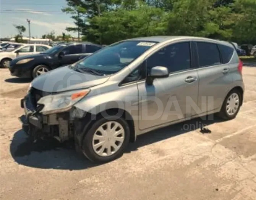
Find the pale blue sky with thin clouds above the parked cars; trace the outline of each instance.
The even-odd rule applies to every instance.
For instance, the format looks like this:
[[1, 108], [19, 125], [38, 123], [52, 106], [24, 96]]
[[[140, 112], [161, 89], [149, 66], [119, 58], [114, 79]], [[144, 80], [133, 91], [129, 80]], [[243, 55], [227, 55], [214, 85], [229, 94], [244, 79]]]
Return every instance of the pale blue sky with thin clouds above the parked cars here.
[[[0, 0], [0, 37], [13, 37], [18, 34], [15, 25], [26, 27], [24, 36], [28, 37], [28, 22], [31, 20], [31, 37], [55, 31], [55, 35], [66, 32], [67, 26], [74, 26], [69, 14], [62, 13], [65, 0]], [[76, 33], [69, 32], [74, 37]]]

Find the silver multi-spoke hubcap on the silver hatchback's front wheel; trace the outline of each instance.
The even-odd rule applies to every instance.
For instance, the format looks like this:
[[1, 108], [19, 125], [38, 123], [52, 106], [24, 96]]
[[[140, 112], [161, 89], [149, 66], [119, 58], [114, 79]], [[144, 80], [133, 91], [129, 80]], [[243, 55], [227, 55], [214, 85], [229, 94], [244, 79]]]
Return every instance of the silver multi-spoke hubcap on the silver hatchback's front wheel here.
[[94, 152], [102, 157], [115, 154], [123, 144], [125, 130], [123, 126], [115, 121], [102, 124], [94, 133], [92, 148]]

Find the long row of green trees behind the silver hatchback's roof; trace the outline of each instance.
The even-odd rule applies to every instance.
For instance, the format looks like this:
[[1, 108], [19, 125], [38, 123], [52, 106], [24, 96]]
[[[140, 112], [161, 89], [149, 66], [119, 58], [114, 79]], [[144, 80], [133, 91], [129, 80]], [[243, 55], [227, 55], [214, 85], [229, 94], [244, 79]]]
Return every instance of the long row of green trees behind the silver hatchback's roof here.
[[66, 0], [82, 40], [110, 44], [151, 35], [256, 43], [256, 0]]

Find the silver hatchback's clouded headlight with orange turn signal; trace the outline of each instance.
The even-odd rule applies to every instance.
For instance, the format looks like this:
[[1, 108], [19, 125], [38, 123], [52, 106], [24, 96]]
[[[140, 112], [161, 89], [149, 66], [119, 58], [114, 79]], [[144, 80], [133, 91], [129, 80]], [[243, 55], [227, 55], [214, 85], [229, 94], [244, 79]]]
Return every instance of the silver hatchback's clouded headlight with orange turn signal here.
[[53, 94], [41, 98], [37, 103], [43, 104], [42, 114], [53, 114], [69, 110], [76, 102], [86, 96], [90, 90]]

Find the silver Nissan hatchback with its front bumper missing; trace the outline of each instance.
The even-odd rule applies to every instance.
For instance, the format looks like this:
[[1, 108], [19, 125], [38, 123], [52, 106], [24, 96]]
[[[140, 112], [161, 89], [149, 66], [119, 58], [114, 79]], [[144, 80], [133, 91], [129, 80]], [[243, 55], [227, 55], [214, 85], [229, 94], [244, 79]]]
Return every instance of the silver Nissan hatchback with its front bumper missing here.
[[87, 158], [108, 162], [150, 130], [212, 113], [235, 118], [243, 103], [242, 67], [223, 41], [123, 40], [34, 79], [20, 120], [35, 140], [74, 138]]

